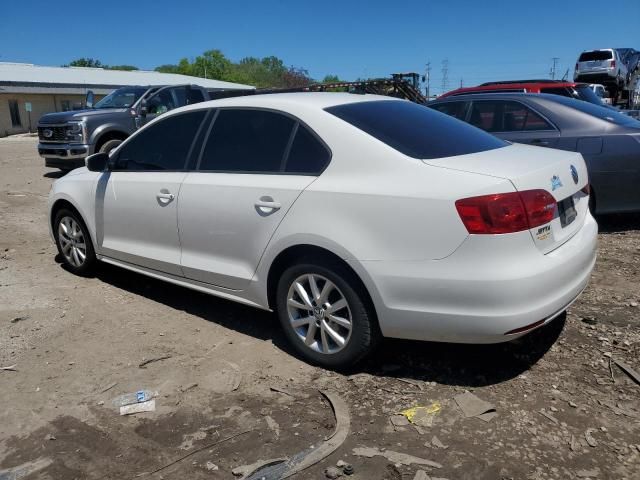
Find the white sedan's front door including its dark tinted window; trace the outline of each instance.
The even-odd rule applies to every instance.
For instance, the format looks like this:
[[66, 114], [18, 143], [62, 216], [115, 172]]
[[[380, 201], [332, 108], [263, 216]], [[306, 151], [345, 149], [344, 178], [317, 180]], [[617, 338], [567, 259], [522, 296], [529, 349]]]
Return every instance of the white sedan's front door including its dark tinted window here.
[[204, 111], [171, 115], [130, 137], [99, 180], [96, 226], [100, 253], [182, 275], [177, 204]]

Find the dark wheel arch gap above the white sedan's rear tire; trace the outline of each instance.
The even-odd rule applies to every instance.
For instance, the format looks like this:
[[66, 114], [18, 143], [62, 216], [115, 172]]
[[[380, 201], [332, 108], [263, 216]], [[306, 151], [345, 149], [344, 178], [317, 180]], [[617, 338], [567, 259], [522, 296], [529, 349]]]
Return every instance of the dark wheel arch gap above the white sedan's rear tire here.
[[[380, 328], [376, 305], [371, 290], [375, 287], [368, 288], [367, 283], [362, 278], [351, 263], [344, 258], [336, 255], [327, 248], [310, 243], [301, 243], [290, 245], [280, 253], [278, 253], [267, 273], [267, 302], [270, 309], [275, 310], [276, 307], [276, 290], [278, 287], [278, 279], [282, 273], [291, 265], [301, 261], [310, 261], [313, 263], [320, 262], [323, 265], [337, 264], [345, 268], [352, 276], [352, 280], [356, 282], [355, 288], [363, 295], [363, 299], [369, 307], [370, 312], [375, 320], [377, 328]], [[375, 291], [373, 292], [375, 294]]]

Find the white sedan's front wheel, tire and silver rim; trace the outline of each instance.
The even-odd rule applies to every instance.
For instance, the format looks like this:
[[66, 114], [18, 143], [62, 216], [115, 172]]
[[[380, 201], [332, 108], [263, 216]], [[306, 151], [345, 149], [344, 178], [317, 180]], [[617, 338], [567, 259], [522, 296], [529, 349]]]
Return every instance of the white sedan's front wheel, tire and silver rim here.
[[63, 264], [72, 273], [89, 275], [96, 263], [96, 254], [89, 231], [80, 215], [67, 208], [56, 214], [53, 234]]

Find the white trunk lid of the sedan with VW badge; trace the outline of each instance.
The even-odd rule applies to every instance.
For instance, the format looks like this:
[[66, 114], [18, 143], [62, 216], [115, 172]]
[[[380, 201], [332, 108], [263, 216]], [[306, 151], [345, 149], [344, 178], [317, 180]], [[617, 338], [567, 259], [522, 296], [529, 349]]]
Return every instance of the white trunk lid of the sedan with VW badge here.
[[[587, 167], [579, 153], [510, 145], [472, 155], [423, 160], [428, 165], [509, 180], [518, 191], [546, 190], [557, 202], [554, 219], [530, 230], [538, 249], [548, 253], [569, 240], [584, 223], [589, 197]], [[498, 193], [498, 192], [496, 192]]]

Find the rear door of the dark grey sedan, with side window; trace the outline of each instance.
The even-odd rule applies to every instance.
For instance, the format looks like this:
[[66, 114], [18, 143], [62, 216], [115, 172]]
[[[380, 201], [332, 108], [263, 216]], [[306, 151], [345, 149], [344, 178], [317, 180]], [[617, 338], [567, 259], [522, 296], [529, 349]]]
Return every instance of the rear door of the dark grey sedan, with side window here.
[[503, 140], [555, 147], [560, 131], [540, 113], [514, 100], [474, 100], [469, 123]]

